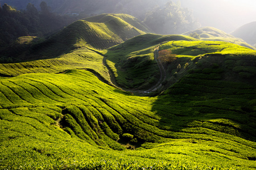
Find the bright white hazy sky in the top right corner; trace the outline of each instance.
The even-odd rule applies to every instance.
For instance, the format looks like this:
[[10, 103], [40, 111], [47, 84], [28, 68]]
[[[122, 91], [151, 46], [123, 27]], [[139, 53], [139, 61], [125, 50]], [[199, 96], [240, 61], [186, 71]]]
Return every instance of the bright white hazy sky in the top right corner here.
[[256, 21], [256, 0], [181, 0], [181, 6], [193, 10], [202, 27], [227, 33]]

